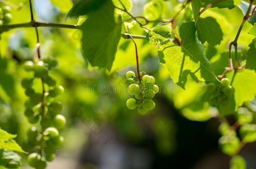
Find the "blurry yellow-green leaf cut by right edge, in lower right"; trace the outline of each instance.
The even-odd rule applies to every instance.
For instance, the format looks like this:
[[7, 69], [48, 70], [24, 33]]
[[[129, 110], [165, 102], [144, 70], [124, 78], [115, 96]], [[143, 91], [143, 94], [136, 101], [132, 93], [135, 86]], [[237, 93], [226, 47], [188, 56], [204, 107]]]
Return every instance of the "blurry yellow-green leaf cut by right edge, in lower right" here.
[[256, 141], [256, 124], [245, 124], [241, 126], [240, 135], [248, 143]]

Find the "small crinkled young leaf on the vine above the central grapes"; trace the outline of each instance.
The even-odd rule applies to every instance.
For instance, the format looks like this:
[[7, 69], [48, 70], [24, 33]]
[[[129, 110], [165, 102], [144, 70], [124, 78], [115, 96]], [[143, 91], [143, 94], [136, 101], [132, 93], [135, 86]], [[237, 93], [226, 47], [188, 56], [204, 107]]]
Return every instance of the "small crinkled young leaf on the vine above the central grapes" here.
[[170, 23], [162, 23], [148, 31], [146, 37], [149, 43], [157, 45], [171, 38], [172, 26]]

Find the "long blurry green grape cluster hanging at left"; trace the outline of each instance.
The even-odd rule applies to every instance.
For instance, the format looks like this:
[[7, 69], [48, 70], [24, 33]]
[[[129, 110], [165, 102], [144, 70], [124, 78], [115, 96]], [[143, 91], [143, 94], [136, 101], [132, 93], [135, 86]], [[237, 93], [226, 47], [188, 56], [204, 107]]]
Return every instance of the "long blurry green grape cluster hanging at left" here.
[[[65, 126], [66, 119], [60, 114], [62, 103], [56, 99], [64, 92], [64, 88], [57, 86], [57, 82], [49, 75], [49, 71], [57, 64], [57, 60], [51, 57], [24, 63], [24, 70], [34, 74], [34, 77], [24, 78], [21, 81], [21, 86], [29, 97], [25, 102], [24, 114], [30, 124], [40, 122], [40, 126], [38, 128], [33, 126], [27, 131], [28, 140], [24, 142], [23, 148], [27, 152], [33, 152], [28, 156], [28, 164], [36, 169], [44, 169], [47, 165], [46, 161], [54, 160], [56, 149], [64, 142], [58, 129]], [[42, 81], [44, 86], [42, 93], [33, 88], [33, 83], [37, 79]]]

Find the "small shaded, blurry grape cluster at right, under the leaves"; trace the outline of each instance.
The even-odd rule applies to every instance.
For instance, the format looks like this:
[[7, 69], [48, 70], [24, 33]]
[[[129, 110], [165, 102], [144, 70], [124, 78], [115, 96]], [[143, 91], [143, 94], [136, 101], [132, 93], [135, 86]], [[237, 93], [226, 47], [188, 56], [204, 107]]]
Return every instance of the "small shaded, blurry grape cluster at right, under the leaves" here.
[[222, 78], [220, 83], [209, 83], [207, 91], [212, 93], [212, 96], [209, 98], [211, 105], [218, 106], [220, 104], [221, 106], [227, 106], [234, 93], [234, 88], [230, 86], [228, 78]]

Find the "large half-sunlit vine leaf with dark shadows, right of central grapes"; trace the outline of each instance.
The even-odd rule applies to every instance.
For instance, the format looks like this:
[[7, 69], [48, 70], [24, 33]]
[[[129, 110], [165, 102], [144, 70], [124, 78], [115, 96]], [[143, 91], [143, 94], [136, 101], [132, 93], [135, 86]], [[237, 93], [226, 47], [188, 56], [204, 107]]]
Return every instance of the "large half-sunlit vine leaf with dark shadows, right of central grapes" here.
[[196, 82], [212, 81], [215, 78], [213, 68], [204, 55], [204, 45], [196, 38], [194, 22], [182, 23], [179, 33], [183, 47], [170, 41], [158, 50], [159, 60], [170, 71], [173, 81], [183, 89], [188, 75]]

